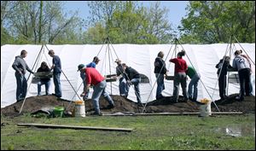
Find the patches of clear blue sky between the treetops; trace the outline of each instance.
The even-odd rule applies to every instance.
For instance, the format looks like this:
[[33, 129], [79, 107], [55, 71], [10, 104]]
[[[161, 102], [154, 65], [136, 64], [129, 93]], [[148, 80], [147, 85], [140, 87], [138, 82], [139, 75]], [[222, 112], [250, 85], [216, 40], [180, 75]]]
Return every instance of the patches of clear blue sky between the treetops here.
[[[143, 2], [143, 5], [146, 7], [150, 7], [151, 3], [155, 3], [156, 1], [138, 1]], [[86, 1], [66, 1], [64, 2], [64, 8], [69, 11], [75, 12], [79, 11], [79, 17], [86, 20], [87, 16], [89, 16], [89, 7], [87, 6]], [[172, 28], [177, 28], [177, 26], [181, 25], [180, 21], [182, 17], [185, 17], [186, 11], [185, 8], [189, 1], [160, 1], [161, 7], [166, 7], [169, 9], [168, 20], [171, 23]]]

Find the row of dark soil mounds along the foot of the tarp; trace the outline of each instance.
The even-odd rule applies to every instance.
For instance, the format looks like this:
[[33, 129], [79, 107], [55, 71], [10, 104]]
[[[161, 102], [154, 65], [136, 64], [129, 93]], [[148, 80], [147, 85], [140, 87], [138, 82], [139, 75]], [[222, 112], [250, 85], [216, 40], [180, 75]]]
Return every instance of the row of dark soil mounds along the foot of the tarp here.
[[[243, 102], [237, 102], [235, 97], [229, 96], [224, 101], [216, 101], [218, 109], [221, 112], [253, 112], [255, 113], [255, 96], [246, 96]], [[108, 102], [103, 97], [100, 98], [101, 111], [108, 113], [117, 112], [143, 112], [143, 107], [138, 107], [136, 102], [126, 99], [122, 96], [112, 96], [115, 107], [108, 109]], [[181, 97], [182, 100], [182, 97]], [[20, 107], [23, 102], [16, 102], [8, 107], [1, 108], [1, 113], [5, 116], [19, 116]], [[145, 104], [144, 104], [145, 105]], [[22, 109], [22, 113], [33, 113], [43, 107], [65, 107], [67, 111], [72, 111], [74, 103], [58, 99], [55, 96], [32, 96], [26, 98], [26, 102]], [[212, 103], [212, 111], [217, 112], [217, 107]], [[85, 102], [86, 113], [94, 112], [91, 100]], [[153, 102], [148, 102], [145, 108], [146, 113], [184, 113], [184, 112], [200, 112], [200, 104], [196, 102], [172, 102], [172, 97], [166, 97]]]

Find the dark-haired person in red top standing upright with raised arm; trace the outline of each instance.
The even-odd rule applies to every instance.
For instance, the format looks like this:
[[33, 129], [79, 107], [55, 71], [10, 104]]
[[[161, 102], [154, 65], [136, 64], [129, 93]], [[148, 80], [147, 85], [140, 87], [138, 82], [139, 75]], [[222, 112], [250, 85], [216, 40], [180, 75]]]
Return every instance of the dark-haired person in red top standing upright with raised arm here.
[[185, 55], [185, 51], [182, 50], [181, 52], [177, 53], [177, 58], [173, 58], [170, 62], [175, 64], [174, 67], [174, 90], [173, 90], [173, 97], [174, 102], [178, 100], [178, 91], [179, 91], [179, 84], [181, 84], [183, 89], [183, 97], [184, 101], [188, 100], [187, 97], [187, 75], [186, 71], [188, 69], [188, 65], [186, 61], [183, 60], [183, 56]]

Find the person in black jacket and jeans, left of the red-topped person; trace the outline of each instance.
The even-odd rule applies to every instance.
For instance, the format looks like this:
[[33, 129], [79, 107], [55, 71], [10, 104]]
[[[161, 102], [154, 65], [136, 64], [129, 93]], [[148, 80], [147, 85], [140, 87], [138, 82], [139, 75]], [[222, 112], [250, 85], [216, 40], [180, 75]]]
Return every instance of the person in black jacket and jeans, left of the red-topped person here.
[[162, 91], [165, 90], [164, 78], [167, 72], [166, 70], [166, 62], [163, 60], [164, 53], [160, 51], [157, 57], [154, 60], [154, 74], [155, 78], [157, 78], [157, 88], [156, 88], [156, 99], [161, 99], [164, 96], [162, 95]]

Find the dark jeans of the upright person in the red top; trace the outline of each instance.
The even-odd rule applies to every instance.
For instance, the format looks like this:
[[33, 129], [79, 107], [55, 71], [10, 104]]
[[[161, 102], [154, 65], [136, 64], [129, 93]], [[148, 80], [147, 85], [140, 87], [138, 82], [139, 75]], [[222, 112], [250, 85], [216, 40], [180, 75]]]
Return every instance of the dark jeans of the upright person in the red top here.
[[173, 90], [173, 97], [174, 101], [177, 102], [178, 100], [178, 92], [179, 92], [179, 84], [181, 84], [183, 89], [183, 97], [187, 97], [187, 77], [186, 73], [175, 73], [174, 75], [174, 90]]

